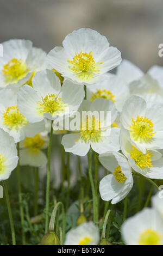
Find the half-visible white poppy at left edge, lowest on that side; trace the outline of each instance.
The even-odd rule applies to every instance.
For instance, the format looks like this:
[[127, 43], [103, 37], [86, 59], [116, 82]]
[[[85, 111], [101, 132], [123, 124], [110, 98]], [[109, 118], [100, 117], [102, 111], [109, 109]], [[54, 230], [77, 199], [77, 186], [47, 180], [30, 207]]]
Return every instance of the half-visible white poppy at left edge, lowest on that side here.
[[0, 181], [7, 180], [17, 166], [17, 149], [14, 139], [0, 129]]

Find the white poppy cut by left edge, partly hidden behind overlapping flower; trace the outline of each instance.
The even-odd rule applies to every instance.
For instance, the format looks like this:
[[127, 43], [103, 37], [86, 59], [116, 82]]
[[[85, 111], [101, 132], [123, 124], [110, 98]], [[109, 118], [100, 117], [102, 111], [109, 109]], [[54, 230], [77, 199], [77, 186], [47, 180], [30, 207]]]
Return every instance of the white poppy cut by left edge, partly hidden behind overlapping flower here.
[[15, 143], [33, 137], [45, 129], [44, 121], [29, 123], [17, 107], [17, 88], [8, 86], [0, 91], [0, 127], [14, 138]]

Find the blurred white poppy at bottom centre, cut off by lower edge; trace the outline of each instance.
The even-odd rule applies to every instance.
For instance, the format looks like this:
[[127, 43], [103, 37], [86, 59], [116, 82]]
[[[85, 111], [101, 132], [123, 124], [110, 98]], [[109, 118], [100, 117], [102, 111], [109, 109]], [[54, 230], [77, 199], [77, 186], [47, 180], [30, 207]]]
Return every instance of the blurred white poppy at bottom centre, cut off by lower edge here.
[[93, 222], [84, 222], [66, 234], [64, 245], [98, 245], [99, 229]]

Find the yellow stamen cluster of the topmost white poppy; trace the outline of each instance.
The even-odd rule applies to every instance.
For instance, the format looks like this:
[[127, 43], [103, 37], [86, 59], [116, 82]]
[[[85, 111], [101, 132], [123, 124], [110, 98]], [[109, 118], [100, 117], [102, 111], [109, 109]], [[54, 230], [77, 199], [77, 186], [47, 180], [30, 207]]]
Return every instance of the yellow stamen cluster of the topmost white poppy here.
[[76, 55], [73, 57], [72, 60], [68, 60], [68, 63], [70, 64], [70, 69], [74, 73], [78, 73], [81, 71], [86, 72], [99, 72], [97, 65], [101, 64], [102, 62], [95, 63], [95, 60], [93, 58], [93, 52], [82, 52], [80, 51], [79, 54], [76, 53]]

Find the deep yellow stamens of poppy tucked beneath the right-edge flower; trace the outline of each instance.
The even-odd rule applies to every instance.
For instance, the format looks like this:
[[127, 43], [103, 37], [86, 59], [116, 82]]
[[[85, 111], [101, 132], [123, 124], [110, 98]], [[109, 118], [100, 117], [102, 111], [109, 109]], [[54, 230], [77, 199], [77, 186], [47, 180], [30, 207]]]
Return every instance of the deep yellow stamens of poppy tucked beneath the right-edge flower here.
[[139, 151], [137, 148], [135, 148], [133, 145], [131, 145], [132, 149], [129, 152], [131, 159], [135, 160], [136, 166], [138, 166], [141, 169], [144, 168], [150, 168], [152, 167], [151, 163], [151, 157], [152, 153], [149, 153], [149, 151], [146, 151], [146, 154], [143, 154], [141, 151]]

